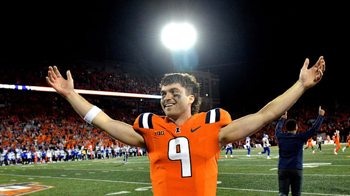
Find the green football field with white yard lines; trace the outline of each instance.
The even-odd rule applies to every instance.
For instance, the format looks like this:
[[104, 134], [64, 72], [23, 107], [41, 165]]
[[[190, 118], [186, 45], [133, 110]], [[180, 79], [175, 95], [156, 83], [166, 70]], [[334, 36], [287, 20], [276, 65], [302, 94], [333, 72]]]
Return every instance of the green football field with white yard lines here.
[[[350, 195], [350, 148], [340, 149], [338, 155], [333, 148], [322, 145], [322, 152], [304, 151], [303, 195]], [[270, 149], [272, 159], [258, 156], [262, 148], [252, 148], [251, 157], [246, 157], [245, 149], [234, 150], [232, 158], [225, 158], [226, 151], [221, 151], [216, 195], [278, 195], [278, 148]], [[33, 196], [152, 196], [149, 169], [147, 156], [130, 157], [128, 164], [115, 158], [0, 166], [0, 196], [29, 191]]]

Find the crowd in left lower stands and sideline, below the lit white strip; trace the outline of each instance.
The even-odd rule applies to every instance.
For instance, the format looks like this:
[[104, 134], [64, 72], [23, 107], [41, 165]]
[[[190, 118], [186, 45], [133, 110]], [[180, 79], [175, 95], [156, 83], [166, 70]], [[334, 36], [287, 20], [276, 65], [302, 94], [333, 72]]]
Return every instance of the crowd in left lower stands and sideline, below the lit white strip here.
[[[120, 157], [121, 151], [125, 151], [123, 147], [133, 152], [130, 155], [146, 154], [144, 150], [126, 146], [86, 123], [56, 93], [3, 92], [2, 97], [7, 99], [7, 106], [0, 110], [0, 160], [3, 165], [35, 163], [34, 157], [40, 158], [43, 153], [47, 155], [46, 160], [41, 159], [40, 162]], [[155, 100], [96, 100], [89, 96], [86, 99], [101, 107], [111, 118], [129, 124], [133, 124], [142, 112], [161, 112]], [[90, 148], [92, 151], [89, 151]]]

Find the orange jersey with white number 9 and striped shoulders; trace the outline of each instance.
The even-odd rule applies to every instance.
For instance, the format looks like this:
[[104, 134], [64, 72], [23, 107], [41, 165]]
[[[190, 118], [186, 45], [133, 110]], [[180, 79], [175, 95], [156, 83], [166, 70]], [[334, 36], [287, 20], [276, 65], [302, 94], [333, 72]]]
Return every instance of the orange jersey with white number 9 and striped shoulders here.
[[230, 122], [219, 108], [195, 114], [180, 126], [168, 117], [141, 114], [133, 128], [146, 142], [154, 196], [215, 196], [218, 133]]

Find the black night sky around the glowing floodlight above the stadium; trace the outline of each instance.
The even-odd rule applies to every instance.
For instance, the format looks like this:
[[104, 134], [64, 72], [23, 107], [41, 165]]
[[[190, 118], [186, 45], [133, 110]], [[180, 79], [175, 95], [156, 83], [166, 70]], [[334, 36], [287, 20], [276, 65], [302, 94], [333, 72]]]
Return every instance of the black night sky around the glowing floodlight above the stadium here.
[[[348, 104], [349, 11], [335, 2], [56, 1], [1, 6], [1, 60], [108, 59], [171, 72], [160, 32], [187, 21], [197, 30], [193, 69], [220, 75], [222, 108], [257, 110], [291, 87], [305, 58], [326, 72], [299, 104]], [[35, 67], [33, 67], [35, 69]], [[74, 73], [72, 73], [74, 76]]]

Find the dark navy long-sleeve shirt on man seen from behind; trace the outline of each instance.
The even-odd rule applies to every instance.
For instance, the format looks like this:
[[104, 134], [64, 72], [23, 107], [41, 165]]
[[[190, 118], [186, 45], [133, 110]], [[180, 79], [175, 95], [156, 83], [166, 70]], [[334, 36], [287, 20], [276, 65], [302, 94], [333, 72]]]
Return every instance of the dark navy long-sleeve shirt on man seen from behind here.
[[318, 115], [313, 126], [306, 132], [297, 132], [297, 134], [283, 133], [282, 127], [285, 119], [280, 118], [276, 126], [276, 139], [279, 144], [279, 163], [278, 168], [285, 169], [303, 169], [303, 145], [316, 134], [320, 128], [324, 116]]

